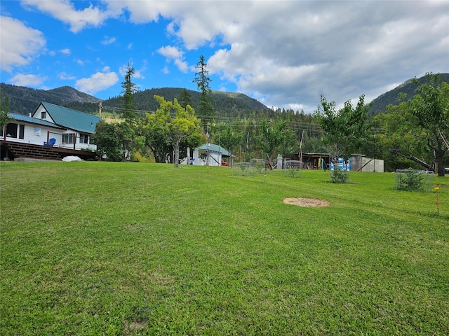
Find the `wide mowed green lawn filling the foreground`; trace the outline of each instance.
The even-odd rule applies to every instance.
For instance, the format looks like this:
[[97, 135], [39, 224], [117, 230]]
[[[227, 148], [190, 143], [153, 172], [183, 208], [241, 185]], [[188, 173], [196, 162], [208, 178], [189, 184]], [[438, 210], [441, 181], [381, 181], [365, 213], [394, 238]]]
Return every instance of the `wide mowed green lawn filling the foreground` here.
[[438, 215], [393, 173], [0, 169], [1, 335], [449, 334], [448, 177]]

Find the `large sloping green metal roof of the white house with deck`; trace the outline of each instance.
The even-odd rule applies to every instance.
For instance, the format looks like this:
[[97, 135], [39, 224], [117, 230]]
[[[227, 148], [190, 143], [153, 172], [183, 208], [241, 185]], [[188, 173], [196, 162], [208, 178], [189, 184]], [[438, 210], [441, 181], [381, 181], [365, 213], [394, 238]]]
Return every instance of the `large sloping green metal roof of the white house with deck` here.
[[41, 102], [41, 104], [56, 125], [69, 128], [70, 130], [93, 134], [95, 133], [95, 126], [101, 120], [99, 116], [68, 109], [67, 107], [46, 102]]

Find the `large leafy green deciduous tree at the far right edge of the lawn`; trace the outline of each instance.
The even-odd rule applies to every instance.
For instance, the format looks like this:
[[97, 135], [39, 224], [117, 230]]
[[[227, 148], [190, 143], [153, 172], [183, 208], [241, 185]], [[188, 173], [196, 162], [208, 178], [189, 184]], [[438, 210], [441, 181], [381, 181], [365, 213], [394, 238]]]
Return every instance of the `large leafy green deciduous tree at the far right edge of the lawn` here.
[[444, 176], [449, 154], [449, 85], [438, 79], [427, 73], [424, 83], [415, 81], [419, 86], [412, 100], [402, 95], [402, 102], [389, 105], [387, 113], [375, 117], [382, 129], [377, 139], [387, 151], [387, 165], [410, 167], [411, 160], [424, 169], [435, 169], [436, 163], [438, 176]]

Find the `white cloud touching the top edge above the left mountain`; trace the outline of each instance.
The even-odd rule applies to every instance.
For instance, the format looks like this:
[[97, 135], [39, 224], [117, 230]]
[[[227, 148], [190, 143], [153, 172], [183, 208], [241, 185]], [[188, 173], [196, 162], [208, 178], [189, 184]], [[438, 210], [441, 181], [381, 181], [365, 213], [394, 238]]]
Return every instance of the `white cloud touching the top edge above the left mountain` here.
[[94, 7], [92, 4], [82, 10], [76, 10], [74, 4], [67, 0], [42, 1], [22, 0], [24, 6], [35, 7], [44, 13], [48, 13], [67, 25], [70, 31], [77, 33], [85, 27], [98, 27], [109, 17], [106, 10]]

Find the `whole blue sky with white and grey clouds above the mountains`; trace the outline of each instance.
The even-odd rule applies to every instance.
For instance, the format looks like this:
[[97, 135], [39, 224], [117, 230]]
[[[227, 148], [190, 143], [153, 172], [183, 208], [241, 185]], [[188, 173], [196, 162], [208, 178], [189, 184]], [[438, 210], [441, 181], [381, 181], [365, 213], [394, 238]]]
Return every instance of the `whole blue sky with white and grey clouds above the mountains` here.
[[449, 72], [449, 1], [0, 2], [1, 82], [121, 94], [193, 83], [313, 113], [370, 102], [410, 78]]

